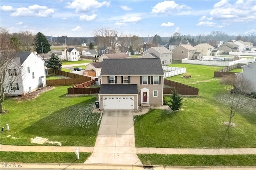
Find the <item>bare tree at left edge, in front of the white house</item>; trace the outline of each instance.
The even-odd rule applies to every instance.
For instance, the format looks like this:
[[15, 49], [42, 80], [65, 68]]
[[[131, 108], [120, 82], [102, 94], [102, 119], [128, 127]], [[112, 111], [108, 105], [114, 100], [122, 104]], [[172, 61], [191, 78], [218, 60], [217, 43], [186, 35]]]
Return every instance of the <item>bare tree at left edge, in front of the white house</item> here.
[[[12, 83], [18, 81], [21, 76], [21, 69], [10, 68], [18, 57], [17, 52], [11, 43], [11, 35], [6, 28], [0, 28], [0, 113], [4, 113], [2, 103], [4, 97], [10, 90], [14, 89]], [[17, 87], [16, 87], [17, 88]]]

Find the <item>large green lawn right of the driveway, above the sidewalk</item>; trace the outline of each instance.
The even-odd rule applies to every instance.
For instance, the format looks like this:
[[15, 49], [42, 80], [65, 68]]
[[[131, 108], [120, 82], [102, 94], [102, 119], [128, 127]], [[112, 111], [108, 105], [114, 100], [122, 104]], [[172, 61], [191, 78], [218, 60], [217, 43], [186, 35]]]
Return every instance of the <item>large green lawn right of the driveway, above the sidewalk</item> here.
[[[174, 63], [186, 67], [191, 78], [168, 77], [199, 89], [198, 97], [183, 97], [181, 111], [154, 109], [134, 117], [136, 147], [167, 148], [244, 148], [256, 147], [256, 111], [237, 113], [226, 127], [228, 110], [217, 96], [225, 91], [214, 71], [222, 67]], [[166, 96], [170, 99], [170, 96]]]

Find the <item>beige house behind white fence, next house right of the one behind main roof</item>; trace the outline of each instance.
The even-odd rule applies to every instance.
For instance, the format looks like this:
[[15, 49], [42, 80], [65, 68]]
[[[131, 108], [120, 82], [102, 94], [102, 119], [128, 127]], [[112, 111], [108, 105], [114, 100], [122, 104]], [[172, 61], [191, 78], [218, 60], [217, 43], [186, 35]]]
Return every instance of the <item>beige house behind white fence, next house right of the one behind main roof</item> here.
[[[183, 44], [172, 49], [172, 59], [182, 60], [184, 58], [194, 59], [194, 53], [196, 53], [196, 48], [189, 44]], [[198, 58], [199, 59], [199, 58]]]

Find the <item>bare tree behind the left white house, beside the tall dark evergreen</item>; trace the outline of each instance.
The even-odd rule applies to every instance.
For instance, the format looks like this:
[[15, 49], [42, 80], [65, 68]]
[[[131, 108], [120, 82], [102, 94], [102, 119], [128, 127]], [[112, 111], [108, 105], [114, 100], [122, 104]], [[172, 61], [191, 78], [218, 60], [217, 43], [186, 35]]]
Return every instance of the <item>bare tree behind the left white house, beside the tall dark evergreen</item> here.
[[20, 44], [24, 50], [31, 51], [34, 44], [35, 35], [30, 31], [21, 31], [17, 34], [17, 37], [20, 40]]

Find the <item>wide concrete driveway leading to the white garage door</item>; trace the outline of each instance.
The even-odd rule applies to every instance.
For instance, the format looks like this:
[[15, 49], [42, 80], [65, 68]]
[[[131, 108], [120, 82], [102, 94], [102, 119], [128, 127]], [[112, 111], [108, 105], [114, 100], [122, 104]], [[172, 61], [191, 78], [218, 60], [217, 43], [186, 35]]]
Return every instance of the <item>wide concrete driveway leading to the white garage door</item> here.
[[90, 164], [142, 164], [136, 155], [133, 110], [104, 110]]

